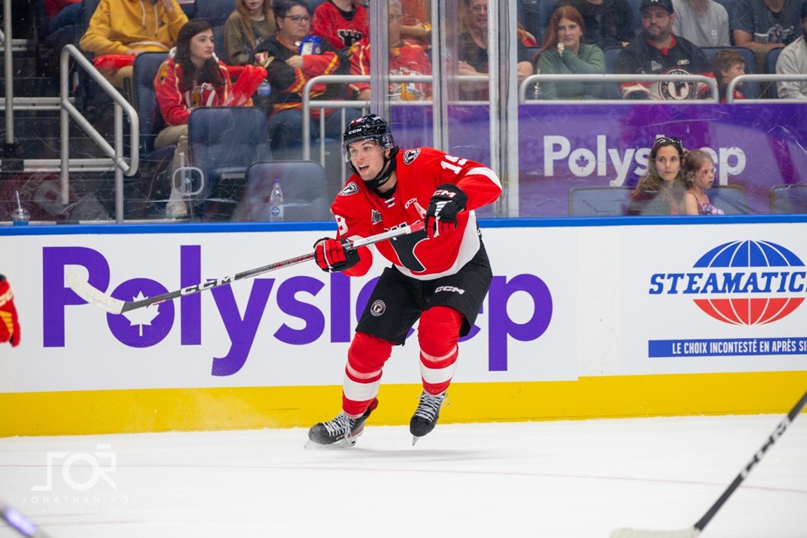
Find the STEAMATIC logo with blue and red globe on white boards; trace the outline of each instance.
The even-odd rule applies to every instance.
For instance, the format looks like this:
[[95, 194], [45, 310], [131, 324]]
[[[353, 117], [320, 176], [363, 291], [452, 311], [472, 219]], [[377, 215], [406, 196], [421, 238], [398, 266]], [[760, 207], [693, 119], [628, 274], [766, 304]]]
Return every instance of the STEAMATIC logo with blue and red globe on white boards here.
[[692, 273], [656, 273], [650, 294], [692, 295], [700, 310], [723, 323], [763, 325], [792, 314], [805, 300], [801, 259], [769, 241], [732, 241], [706, 252]]

